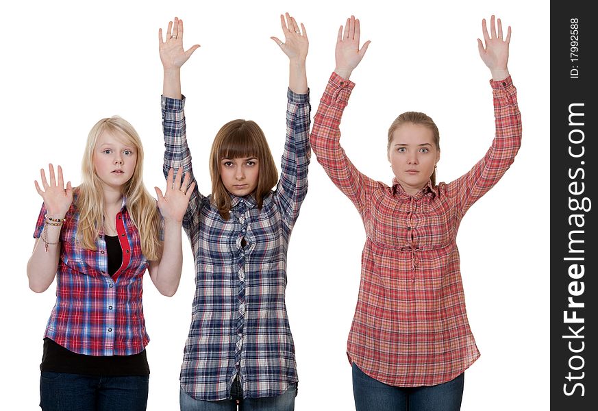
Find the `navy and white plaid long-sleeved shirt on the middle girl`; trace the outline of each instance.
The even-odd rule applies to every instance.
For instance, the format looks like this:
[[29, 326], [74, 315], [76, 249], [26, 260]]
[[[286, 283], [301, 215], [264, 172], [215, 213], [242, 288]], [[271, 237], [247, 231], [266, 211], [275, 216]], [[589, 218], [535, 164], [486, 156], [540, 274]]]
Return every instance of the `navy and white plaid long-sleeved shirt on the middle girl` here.
[[[162, 97], [164, 175], [179, 166], [192, 173], [184, 104]], [[286, 125], [282, 173], [261, 210], [252, 196], [231, 195], [224, 221], [211, 196], [197, 186], [191, 195], [183, 227], [194, 253], [196, 290], [181, 386], [195, 399], [229, 398], [236, 375], [251, 398], [279, 395], [297, 382], [284, 293], [288, 241], [308, 189], [308, 95], [288, 90]]]

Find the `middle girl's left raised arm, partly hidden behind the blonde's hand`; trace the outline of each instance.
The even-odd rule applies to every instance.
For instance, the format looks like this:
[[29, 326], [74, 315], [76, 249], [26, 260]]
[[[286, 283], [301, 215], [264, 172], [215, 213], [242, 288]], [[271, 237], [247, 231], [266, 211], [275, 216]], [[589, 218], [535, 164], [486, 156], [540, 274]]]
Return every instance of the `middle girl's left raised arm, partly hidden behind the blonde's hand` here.
[[[164, 176], [168, 178], [171, 169], [182, 168], [190, 174], [191, 196], [187, 212], [183, 218], [183, 227], [195, 230], [198, 226], [199, 207], [203, 196], [197, 190], [195, 176], [191, 166], [191, 153], [187, 145], [185, 123], [185, 100], [181, 94], [181, 67], [197, 50], [199, 45], [183, 49], [183, 21], [175, 17], [174, 24], [169, 22], [166, 38], [162, 36], [162, 29], [158, 31], [158, 46], [160, 60], [164, 69], [164, 84], [162, 90], [162, 131], [164, 132]], [[178, 176], [177, 176], [178, 177]]]

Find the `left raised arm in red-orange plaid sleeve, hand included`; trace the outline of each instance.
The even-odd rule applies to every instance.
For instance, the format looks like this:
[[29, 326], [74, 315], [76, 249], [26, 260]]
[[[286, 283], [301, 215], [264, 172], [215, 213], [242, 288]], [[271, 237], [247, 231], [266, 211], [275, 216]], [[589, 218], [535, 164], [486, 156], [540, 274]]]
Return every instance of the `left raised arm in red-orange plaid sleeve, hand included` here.
[[314, 117], [310, 136], [312, 149], [332, 182], [340, 188], [360, 214], [364, 211], [366, 198], [376, 183], [360, 173], [340, 147], [340, 119], [355, 84], [349, 80], [353, 69], [361, 62], [369, 41], [360, 44], [360, 21], [347, 18], [345, 29], [340, 26], [336, 39], [336, 69], [330, 76], [324, 95]]

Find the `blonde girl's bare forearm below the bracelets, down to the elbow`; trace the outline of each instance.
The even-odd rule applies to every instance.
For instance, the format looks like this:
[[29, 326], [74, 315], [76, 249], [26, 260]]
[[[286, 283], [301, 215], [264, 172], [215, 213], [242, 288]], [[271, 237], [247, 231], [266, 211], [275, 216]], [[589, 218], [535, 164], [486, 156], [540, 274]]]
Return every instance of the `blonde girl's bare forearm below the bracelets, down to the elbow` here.
[[35, 292], [47, 290], [58, 271], [60, 229], [61, 227], [44, 227], [27, 262], [29, 288]]

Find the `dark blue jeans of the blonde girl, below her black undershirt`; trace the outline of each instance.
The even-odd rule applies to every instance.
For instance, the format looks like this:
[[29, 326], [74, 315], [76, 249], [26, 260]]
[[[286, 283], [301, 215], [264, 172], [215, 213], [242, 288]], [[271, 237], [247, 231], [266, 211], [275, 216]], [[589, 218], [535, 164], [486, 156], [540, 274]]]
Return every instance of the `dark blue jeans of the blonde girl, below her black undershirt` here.
[[145, 411], [149, 376], [103, 377], [42, 371], [43, 411]]

